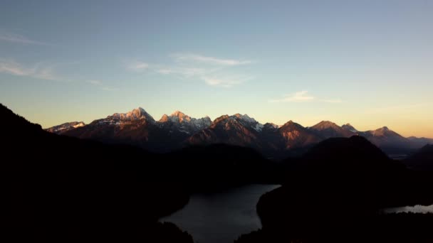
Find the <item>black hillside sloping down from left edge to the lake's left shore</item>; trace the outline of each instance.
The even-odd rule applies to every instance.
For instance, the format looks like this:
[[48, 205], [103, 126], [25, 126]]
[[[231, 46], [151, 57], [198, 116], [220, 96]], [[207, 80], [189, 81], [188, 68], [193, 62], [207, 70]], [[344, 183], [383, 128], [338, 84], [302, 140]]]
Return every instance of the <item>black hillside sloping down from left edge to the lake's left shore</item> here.
[[179, 183], [142, 178], [152, 153], [51, 134], [3, 105], [0, 117], [1, 220], [13, 237], [5, 239], [192, 242], [156, 221], [185, 205], [188, 194]]

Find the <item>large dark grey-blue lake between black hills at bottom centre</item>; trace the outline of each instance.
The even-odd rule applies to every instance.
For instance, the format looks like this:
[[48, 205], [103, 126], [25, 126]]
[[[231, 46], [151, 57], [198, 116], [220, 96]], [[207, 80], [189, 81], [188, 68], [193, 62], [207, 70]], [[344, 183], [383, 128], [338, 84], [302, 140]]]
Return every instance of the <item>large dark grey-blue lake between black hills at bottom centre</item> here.
[[221, 193], [195, 194], [174, 214], [160, 219], [174, 222], [192, 234], [194, 242], [229, 243], [261, 228], [256, 204], [264, 193], [280, 185], [245, 185]]

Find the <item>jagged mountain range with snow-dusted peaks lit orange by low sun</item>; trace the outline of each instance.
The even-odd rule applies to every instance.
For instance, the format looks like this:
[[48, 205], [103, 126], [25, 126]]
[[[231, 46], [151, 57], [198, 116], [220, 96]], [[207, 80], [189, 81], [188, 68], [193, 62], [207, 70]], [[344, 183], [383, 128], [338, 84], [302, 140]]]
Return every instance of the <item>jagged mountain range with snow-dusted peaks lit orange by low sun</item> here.
[[141, 107], [96, 119], [90, 124], [73, 121], [46, 131], [110, 144], [132, 144], [155, 152], [191, 145], [229, 144], [255, 148], [266, 156], [287, 156], [305, 151], [325, 139], [354, 135], [364, 136], [388, 154], [408, 153], [433, 144], [433, 139], [405, 138], [387, 126], [370, 131], [358, 131], [350, 124], [338, 126], [331, 121], [320, 121], [309, 127], [287, 121], [278, 126], [261, 124], [247, 114], [223, 115], [212, 121], [209, 117], [195, 119], [179, 111], [164, 114], [157, 121]]

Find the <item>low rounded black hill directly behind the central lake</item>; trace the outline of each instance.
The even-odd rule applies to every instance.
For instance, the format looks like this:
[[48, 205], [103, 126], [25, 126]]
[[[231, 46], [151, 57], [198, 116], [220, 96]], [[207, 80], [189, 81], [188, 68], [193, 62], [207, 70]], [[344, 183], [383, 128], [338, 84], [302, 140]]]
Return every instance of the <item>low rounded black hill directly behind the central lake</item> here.
[[[213, 144], [190, 146], [164, 155], [174, 180], [187, 180], [194, 190], [212, 190], [246, 183], [280, 183], [276, 163], [252, 148]], [[179, 173], [182, 172], [182, 173]], [[197, 183], [199, 182], [199, 183]]]

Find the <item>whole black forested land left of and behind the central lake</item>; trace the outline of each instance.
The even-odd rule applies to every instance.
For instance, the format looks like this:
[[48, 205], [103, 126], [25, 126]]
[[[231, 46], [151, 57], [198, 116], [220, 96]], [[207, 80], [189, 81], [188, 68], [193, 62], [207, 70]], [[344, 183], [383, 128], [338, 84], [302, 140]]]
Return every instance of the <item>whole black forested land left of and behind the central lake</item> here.
[[216, 144], [156, 154], [49, 133], [4, 106], [0, 113], [4, 220], [23, 239], [190, 242], [174, 225], [157, 223], [183, 207], [189, 192], [281, 180], [251, 148]]

